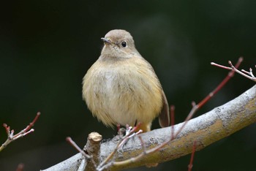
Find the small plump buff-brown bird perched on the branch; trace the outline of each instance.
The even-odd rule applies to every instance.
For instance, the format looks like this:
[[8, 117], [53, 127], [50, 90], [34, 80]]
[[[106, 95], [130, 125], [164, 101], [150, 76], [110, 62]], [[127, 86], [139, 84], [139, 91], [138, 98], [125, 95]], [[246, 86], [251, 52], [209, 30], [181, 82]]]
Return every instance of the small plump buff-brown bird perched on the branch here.
[[112, 30], [102, 38], [98, 60], [83, 77], [83, 99], [106, 126], [121, 124], [149, 132], [159, 115], [160, 126], [169, 126], [169, 107], [151, 64], [138, 50], [131, 34]]

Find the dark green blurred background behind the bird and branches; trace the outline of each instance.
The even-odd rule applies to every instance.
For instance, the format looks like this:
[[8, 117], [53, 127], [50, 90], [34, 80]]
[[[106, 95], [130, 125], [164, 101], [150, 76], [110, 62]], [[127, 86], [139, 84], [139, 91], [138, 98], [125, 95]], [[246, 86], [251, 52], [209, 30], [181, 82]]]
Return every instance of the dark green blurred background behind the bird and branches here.
[[[114, 28], [129, 31], [176, 105], [176, 123], [244, 56], [256, 64], [256, 1], [5, 1], [0, 4], [0, 123], [16, 132], [42, 113], [35, 132], [0, 153], [0, 170], [45, 169], [74, 155], [70, 136], [83, 147], [87, 134], [105, 139], [116, 131], [91, 116], [81, 97], [83, 75], [99, 57], [100, 37]], [[256, 69], [255, 69], [256, 73]], [[197, 115], [254, 86], [236, 75]], [[196, 115], [196, 116], [197, 116]], [[158, 128], [157, 121], [153, 128]], [[256, 170], [256, 126], [195, 153], [194, 170]], [[0, 143], [6, 140], [0, 127]], [[187, 170], [189, 156], [151, 170]], [[136, 170], [146, 170], [141, 167]]]

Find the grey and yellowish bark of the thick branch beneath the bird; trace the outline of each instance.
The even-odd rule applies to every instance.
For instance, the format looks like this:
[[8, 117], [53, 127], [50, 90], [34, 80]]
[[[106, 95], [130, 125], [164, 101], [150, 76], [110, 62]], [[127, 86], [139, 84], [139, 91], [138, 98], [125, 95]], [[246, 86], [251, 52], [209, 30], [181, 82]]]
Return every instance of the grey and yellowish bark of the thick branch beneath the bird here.
[[[211, 143], [221, 140], [255, 123], [255, 121], [256, 86], [253, 86], [236, 99], [188, 121], [187, 125], [181, 130], [178, 136], [159, 151], [146, 155], [143, 159], [134, 163], [117, 162], [131, 159], [143, 153], [143, 148], [138, 137], [135, 137], [134, 140], [129, 140], [123, 148], [118, 149], [115, 157], [116, 164], [112, 165], [111, 170], [121, 170], [124, 168], [139, 167], [146, 164], [177, 159], [191, 153], [192, 145], [195, 141], [197, 144], [196, 151], [200, 151]], [[140, 135], [147, 149], [154, 148], [156, 145], [169, 140], [172, 130], [176, 132], [182, 124], [184, 123], [176, 124], [173, 129], [170, 127], [155, 129]], [[117, 143], [117, 137], [102, 143], [100, 147], [101, 159], [108, 157], [116, 148]], [[78, 153], [53, 167], [49, 167], [45, 171], [78, 170], [80, 161], [82, 160], [83, 156]]]

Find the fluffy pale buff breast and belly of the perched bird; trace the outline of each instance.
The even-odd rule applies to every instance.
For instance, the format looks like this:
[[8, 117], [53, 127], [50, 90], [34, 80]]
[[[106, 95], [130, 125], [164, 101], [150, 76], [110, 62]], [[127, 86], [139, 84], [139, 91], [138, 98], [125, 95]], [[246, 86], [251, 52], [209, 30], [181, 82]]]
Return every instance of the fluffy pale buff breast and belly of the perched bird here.
[[157, 76], [143, 64], [109, 64], [89, 69], [83, 97], [106, 125], [151, 122], [162, 108]]

